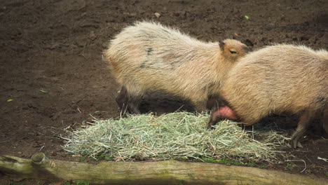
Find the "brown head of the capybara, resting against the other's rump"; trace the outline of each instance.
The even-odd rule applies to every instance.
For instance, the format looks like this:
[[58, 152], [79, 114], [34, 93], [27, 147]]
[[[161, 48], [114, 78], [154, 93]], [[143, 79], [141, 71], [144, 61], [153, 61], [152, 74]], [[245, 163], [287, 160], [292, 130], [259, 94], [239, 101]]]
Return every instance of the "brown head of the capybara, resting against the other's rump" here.
[[229, 62], [235, 62], [238, 58], [245, 56], [252, 50], [244, 43], [241, 43], [235, 39], [225, 39], [224, 41], [219, 41], [219, 46], [221, 48], [221, 55], [226, 61]]

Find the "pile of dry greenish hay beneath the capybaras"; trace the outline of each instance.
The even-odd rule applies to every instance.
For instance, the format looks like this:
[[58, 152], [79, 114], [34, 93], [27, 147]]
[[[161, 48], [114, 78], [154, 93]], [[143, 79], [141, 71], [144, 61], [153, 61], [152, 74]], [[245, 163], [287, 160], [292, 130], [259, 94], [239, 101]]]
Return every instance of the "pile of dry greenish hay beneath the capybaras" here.
[[106, 153], [116, 160], [165, 160], [172, 158], [234, 158], [273, 160], [286, 138], [273, 131], [259, 132], [261, 142], [252, 139], [233, 121], [221, 121], [206, 129], [208, 114], [177, 112], [162, 116], [128, 116], [95, 121], [88, 128], [69, 133], [65, 151], [76, 155]]

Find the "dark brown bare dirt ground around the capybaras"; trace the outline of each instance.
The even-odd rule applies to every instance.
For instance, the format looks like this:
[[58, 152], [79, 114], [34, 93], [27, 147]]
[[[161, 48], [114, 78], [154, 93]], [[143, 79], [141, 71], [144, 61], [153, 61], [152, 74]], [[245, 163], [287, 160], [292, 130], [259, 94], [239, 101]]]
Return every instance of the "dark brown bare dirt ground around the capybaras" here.
[[[119, 86], [102, 61], [102, 50], [136, 20], [156, 20], [203, 41], [238, 34], [250, 39], [254, 48], [285, 42], [327, 50], [327, 11], [324, 0], [1, 0], [0, 156], [30, 158], [42, 151], [49, 158], [74, 160], [61, 149], [63, 140], [57, 136], [64, 134], [62, 130], [92, 121], [90, 115], [118, 117], [114, 98]], [[160, 95], [151, 98], [152, 103], [143, 104], [143, 112], [175, 111], [185, 103]], [[296, 125], [292, 116], [267, 120], [293, 129]], [[328, 163], [317, 159], [328, 158], [327, 135], [310, 133], [303, 150], [287, 151], [294, 160], [306, 161], [304, 172], [304, 163], [297, 161], [270, 168], [327, 179]], [[10, 178], [3, 177], [6, 180], [0, 184], [8, 184]], [[36, 184], [24, 179], [20, 183]]]

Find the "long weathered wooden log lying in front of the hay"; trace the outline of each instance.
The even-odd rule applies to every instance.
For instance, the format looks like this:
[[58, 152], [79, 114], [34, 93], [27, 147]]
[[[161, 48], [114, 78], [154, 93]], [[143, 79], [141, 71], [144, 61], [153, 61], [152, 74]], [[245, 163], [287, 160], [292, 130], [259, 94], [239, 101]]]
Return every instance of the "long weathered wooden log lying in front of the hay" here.
[[327, 184], [297, 174], [256, 167], [176, 160], [88, 163], [50, 160], [36, 153], [32, 160], [0, 157], [0, 172], [27, 179], [88, 181], [91, 184]]

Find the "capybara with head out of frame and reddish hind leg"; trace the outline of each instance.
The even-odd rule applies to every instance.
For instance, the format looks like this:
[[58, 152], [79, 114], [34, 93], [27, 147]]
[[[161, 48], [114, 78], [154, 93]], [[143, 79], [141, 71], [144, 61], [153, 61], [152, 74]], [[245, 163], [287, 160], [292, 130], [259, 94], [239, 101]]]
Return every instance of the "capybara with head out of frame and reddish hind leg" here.
[[223, 104], [214, 107], [209, 128], [222, 118], [252, 125], [269, 114], [300, 114], [292, 145], [301, 147], [299, 139], [315, 116], [324, 112], [327, 122], [328, 52], [267, 46], [240, 58], [219, 93]]

